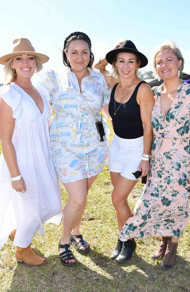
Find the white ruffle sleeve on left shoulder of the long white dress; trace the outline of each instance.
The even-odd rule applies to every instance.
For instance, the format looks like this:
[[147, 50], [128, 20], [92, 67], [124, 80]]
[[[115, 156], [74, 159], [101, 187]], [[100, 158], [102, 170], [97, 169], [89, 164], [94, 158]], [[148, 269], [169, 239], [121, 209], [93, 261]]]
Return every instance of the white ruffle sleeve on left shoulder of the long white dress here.
[[[4, 88], [2, 88], [4, 87]], [[19, 128], [25, 126], [25, 115], [23, 113], [22, 94], [10, 85], [1, 86], [0, 96], [13, 110], [15, 124]]]

